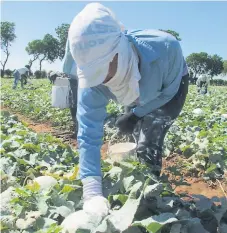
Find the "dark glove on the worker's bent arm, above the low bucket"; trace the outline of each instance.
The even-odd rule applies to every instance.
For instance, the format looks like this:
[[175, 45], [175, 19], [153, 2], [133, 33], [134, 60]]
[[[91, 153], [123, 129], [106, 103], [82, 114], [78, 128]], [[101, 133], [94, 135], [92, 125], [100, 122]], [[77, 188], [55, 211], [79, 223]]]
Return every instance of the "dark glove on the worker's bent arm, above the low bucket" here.
[[141, 118], [136, 116], [133, 112], [129, 112], [118, 118], [116, 121], [116, 126], [122, 133], [132, 133], [136, 123]]

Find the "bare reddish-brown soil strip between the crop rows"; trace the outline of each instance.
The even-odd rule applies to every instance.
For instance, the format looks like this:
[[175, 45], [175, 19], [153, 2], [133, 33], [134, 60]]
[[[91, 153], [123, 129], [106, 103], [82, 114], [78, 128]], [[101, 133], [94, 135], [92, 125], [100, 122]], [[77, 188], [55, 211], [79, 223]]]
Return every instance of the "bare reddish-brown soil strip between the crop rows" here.
[[[40, 123], [35, 122], [22, 114], [12, 111], [9, 108], [1, 106], [1, 111], [9, 111], [12, 114], [18, 116], [18, 119], [26, 123], [27, 127], [37, 133], [51, 133], [53, 136], [61, 139], [64, 143], [71, 145], [73, 148], [77, 148], [77, 141], [75, 135], [69, 131], [60, 131], [51, 126], [50, 122]], [[106, 158], [106, 152], [108, 149], [108, 143], [105, 143], [101, 149], [102, 158]], [[172, 187], [175, 188], [177, 193], [187, 193], [188, 195], [204, 195], [208, 198], [212, 197], [226, 197], [227, 195], [227, 179], [221, 181], [207, 181], [202, 178], [201, 172], [188, 171], [186, 168], [179, 166], [183, 162], [183, 158], [178, 154], [173, 154], [167, 159], [163, 159], [162, 174], [168, 177]], [[174, 170], [174, 174], [173, 174]], [[177, 174], [178, 173], [178, 174]], [[227, 174], [225, 174], [227, 177]]]

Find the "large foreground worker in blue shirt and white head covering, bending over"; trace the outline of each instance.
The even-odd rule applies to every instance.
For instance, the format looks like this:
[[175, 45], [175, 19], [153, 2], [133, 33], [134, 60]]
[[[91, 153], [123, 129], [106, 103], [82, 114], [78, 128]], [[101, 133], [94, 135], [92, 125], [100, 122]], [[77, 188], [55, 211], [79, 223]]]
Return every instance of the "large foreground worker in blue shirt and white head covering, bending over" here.
[[189, 75], [174, 36], [153, 29], [124, 30], [99, 3], [88, 4], [71, 23], [63, 72], [69, 74], [75, 64], [84, 208], [99, 201], [98, 213], [108, 209], [100, 148], [109, 100], [125, 106], [116, 125], [134, 134], [139, 161], [159, 176], [164, 138], [184, 106]]

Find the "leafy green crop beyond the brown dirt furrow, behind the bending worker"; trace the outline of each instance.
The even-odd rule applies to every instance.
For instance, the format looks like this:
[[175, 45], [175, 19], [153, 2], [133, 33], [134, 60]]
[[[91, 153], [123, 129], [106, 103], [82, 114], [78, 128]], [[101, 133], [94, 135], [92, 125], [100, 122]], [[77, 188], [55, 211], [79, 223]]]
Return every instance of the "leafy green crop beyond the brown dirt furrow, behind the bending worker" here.
[[[13, 91], [12, 79], [2, 79], [2, 104], [10, 109], [40, 122], [51, 122], [61, 129], [72, 129], [68, 109], [51, 107], [51, 85], [48, 80], [32, 80], [33, 85]], [[203, 169], [208, 177], [221, 177], [227, 167], [227, 87], [210, 87], [210, 94], [197, 95], [190, 86], [189, 95], [181, 115], [171, 127], [165, 139], [165, 155], [173, 152], [190, 158], [184, 165]], [[108, 113], [116, 116], [122, 110], [114, 103], [108, 105]], [[203, 113], [194, 114], [196, 108]], [[108, 123], [108, 122], [107, 122]], [[105, 125], [105, 139], [114, 134], [114, 127]]]

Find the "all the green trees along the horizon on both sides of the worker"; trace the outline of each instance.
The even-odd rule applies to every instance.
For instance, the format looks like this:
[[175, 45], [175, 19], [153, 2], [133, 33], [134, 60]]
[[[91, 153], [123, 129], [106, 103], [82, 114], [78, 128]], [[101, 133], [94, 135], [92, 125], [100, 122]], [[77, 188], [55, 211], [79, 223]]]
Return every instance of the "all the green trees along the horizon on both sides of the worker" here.
[[[51, 34], [46, 34], [42, 39], [33, 40], [28, 43], [25, 50], [30, 56], [30, 59], [26, 67], [31, 70], [32, 64], [35, 61], [39, 61], [39, 71], [36, 71], [37, 75], [35, 76], [44, 75], [45, 71], [42, 71], [43, 61], [52, 63], [57, 59], [63, 59], [69, 26], [69, 24], [63, 23], [55, 28], [56, 38]], [[177, 40], [181, 41], [179, 33], [169, 29], [159, 30], [170, 33]], [[10, 72], [12, 72], [5, 68], [10, 56], [10, 47], [16, 38], [15, 23], [7, 21], [1, 22], [1, 49], [5, 54], [4, 61], [1, 61], [1, 77], [3, 77], [4, 74], [9, 75]], [[206, 52], [192, 53], [186, 58], [186, 62], [192, 80], [196, 80], [201, 74], [209, 75], [211, 78], [219, 74], [227, 74], [227, 60], [224, 61], [223, 58], [217, 54], [209, 55]]]

